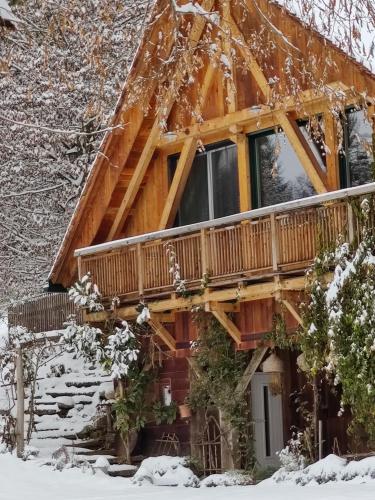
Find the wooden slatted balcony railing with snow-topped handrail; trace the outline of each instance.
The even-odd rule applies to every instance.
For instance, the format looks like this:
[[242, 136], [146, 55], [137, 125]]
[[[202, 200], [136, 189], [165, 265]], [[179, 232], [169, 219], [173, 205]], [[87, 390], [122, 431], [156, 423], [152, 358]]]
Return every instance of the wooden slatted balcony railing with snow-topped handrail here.
[[82, 248], [81, 276], [90, 272], [104, 297], [157, 295], [173, 290], [167, 245], [181, 278], [199, 288], [251, 276], [304, 270], [320, 248], [339, 236], [352, 240], [359, 223], [352, 202], [375, 192], [375, 183], [312, 196], [189, 226]]

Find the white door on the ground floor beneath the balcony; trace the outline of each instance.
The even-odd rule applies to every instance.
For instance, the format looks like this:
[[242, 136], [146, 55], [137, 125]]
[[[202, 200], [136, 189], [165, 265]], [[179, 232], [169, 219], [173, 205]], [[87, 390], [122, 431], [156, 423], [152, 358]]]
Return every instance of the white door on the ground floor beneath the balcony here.
[[255, 455], [262, 467], [278, 466], [276, 452], [284, 447], [282, 401], [280, 394], [270, 390], [273, 377], [272, 373], [255, 373], [251, 381]]

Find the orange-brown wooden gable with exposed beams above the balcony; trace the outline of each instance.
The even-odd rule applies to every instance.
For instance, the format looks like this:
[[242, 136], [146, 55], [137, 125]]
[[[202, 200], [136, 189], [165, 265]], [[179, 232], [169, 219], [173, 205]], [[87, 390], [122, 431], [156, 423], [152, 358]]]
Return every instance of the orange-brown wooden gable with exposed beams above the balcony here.
[[[153, 19], [157, 20], [144, 37], [113, 120], [115, 125], [123, 123], [124, 128], [107, 134], [103, 142], [52, 269], [52, 282], [67, 286], [74, 280], [73, 254], [77, 248], [168, 227], [200, 142], [236, 142], [241, 211], [251, 208], [244, 139], [254, 130], [281, 126], [316, 191], [338, 187], [335, 154], [327, 158], [327, 175], [323, 174], [305, 147], [295, 118], [325, 114], [326, 142], [334, 152], [329, 102], [317, 82], [331, 84], [332, 95], [344, 95], [349, 102], [358, 99], [359, 93], [375, 96], [374, 76], [268, 0], [260, 1], [259, 6], [275, 29], [262, 36], [264, 43], [275, 49], [256, 54], [249, 49], [251, 34], [263, 32], [264, 20], [252, 2], [247, 1], [246, 11], [236, 1], [227, 2], [224, 8], [222, 2], [214, 0], [201, 0], [200, 4], [206, 11], [222, 14], [220, 28], [208, 23], [205, 16], [182, 16], [181, 29], [187, 30], [191, 53], [177, 59], [168, 69], [168, 78], [159, 84], [153, 69], [160, 67], [173, 47], [167, 41], [161, 54], [156, 42], [161, 30], [170, 32], [174, 19], [168, 2], [156, 3]], [[227, 36], [221, 36], [220, 31]], [[186, 82], [184, 67], [188, 57], [201, 50], [201, 40], [206, 50], [207, 41], [221, 43], [222, 50], [216, 57], [201, 53], [201, 67], [192, 81]], [[151, 54], [148, 59], [146, 52]], [[292, 52], [297, 62], [287, 74], [286, 59]], [[231, 78], [225, 78], [225, 72], [230, 72]], [[133, 102], [132, 91], [139, 78], [149, 83]], [[298, 82], [298, 95], [292, 94], [293, 82]], [[161, 130], [161, 121], [170, 133]], [[180, 153], [180, 160], [169, 186], [167, 157], [172, 153]]]

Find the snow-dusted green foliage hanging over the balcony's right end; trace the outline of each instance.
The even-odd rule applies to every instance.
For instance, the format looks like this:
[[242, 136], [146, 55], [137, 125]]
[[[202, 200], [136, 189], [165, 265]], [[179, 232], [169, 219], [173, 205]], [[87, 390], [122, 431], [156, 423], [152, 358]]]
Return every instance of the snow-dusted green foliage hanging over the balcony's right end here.
[[375, 239], [367, 228], [372, 205], [362, 203], [365, 229], [356, 248], [342, 244], [315, 260], [300, 344], [310, 374], [324, 370], [341, 384], [340, 412], [350, 406], [353, 428], [363, 427], [375, 440]]

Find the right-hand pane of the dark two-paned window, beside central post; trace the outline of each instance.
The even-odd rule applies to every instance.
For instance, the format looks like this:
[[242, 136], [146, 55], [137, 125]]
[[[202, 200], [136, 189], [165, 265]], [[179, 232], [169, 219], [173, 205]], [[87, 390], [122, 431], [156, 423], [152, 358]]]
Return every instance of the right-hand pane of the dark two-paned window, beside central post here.
[[211, 153], [214, 217], [239, 212], [237, 148], [230, 146]]

